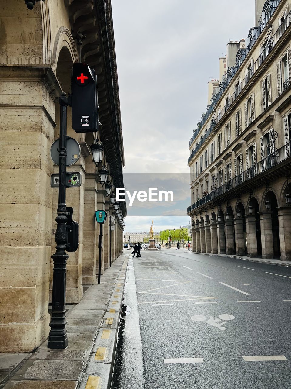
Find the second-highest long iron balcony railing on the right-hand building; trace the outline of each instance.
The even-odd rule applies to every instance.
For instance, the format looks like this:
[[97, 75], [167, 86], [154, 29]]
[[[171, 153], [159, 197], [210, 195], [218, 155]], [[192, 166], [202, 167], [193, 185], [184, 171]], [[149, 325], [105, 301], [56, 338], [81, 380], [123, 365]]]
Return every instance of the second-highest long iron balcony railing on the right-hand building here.
[[[200, 140], [200, 142], [197, 144], [195, 149], [192, 151], [190, 157], [188, 158], [188, 163], [191, 161], [191, 159], [194, 157], [196, 152], [200, 149], [200, 147], [205, 142], [206, 138], [210, 135], [210, 133], [213, 131], [213, 129], [217, 126], [220, 119], [225, 115], [229, 107], [232, 105], [232, 103], [237, 99], [237, 97], [241, 94], [242, 90], [246, 87], [251, 77], [255, 74], [255, 72], [258, 70], [258, 68], [262, 65], [263, 61], [267, 58], [268, 54], [274, 49], [275, 44], [278, 42], [278, 40], [281, 38], [282, 33], [286, 30], [287, 27], [291, 24], [291, 11], [289, 12], [288, 16], [286, 17], [286, 23], [285, 28], [281, 28], [281, 26], [278, 28], [278, 30], [274, 33], [272, 37], [268, 37], [267, 44], [265, 46], [265, 49], [262, 51], [256, 62], [253, 64], [253, 66], [250, 68], [249, 72], [246, 74], [246, 77], [242, 80], [242, 82], [239, 84], [239, 86], [236, 88], [232, 96], [230, 96], [229, 100], [223, 107], [220, 114], [217, 116], [216, 119], [213, 119], [211, 121], [211, 126], [207, 130], [204, 137]], [[284, 88], [286, 89], [289, 86], [289, 80], [287, 80], [284, 83]], [[284, 90], [284, 89], [283, 89]]]

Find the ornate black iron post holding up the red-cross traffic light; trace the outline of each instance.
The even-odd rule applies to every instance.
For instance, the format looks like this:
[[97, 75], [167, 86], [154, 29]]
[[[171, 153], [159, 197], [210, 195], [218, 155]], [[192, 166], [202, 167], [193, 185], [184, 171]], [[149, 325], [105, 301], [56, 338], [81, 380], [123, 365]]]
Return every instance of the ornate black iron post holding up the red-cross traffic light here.
[[[28, 4], [28, 3], [26, 3]], [[50, 333], [47, 347], [65, 349], [68, 346], [66, 330], [66, 264], [69, 258], [66, 253], [66, 157], [67, 157], [67, 108], [68, 98], [62, 93], [60, 104], [60, 146], [59, 146], [59, 198], [57, 205], [57, 230], [55, 231], [56, 252], [52, 281], [52, 312], [50, 316]]]

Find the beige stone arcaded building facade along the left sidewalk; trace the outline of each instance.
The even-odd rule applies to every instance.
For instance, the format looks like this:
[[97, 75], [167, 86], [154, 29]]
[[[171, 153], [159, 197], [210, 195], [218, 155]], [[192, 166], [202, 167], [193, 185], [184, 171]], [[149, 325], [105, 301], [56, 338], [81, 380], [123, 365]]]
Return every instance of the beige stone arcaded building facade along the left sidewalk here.
[[[81, 61], [97, 74], [100, 132], [105, 164], [114, 187], [124, 187], [124, 151], [110, 0], [45, 0], [33, 10], [24, 0], [0, 0], [0, 137], [3, 182], [0, 201], [0, 352], [38, 347], [49, 334], [52, 259], [55, 252], [58, 172], [50, 146], [59, 134], [58, 98], [70, 92], [71, 68], [79, 61], [77, 33], [86, 35]], [[94, 212], [113, 216], [112, 260], [123, 251], [125, 203], [116, 211], [100, 185], [92, 161], [93, 133], [68, 135], [81, 145], [83, 184], [67, 189], [67, 205], [79, 223], [79, 247], [67, 262], [67, 303], [78, 303], [83, 285], [96, 282], [97, 235]], [[102, 268], [109, 267], [109, 217], [104, 226]]]

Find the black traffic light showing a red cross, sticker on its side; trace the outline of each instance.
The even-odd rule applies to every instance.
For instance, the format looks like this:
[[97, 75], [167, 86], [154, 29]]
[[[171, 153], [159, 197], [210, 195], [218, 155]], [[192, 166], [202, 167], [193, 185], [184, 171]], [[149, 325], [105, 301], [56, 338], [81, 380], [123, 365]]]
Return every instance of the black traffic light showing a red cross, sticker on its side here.
[[98, 130], [97, 76], [85, 63], [73, 63], [72, 127], [77, 133]]

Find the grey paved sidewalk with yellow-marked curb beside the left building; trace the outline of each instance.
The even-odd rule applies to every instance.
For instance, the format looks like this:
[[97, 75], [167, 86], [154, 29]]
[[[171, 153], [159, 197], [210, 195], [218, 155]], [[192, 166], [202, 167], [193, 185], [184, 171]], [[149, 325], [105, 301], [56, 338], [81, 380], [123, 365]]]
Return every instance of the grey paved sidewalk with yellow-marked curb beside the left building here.
[[101, 284], [91, 286], [69, 311], [65, 350], [49, 349], [46, 340], [29, 354], [0, 354], [0, 388], [109, 388], [127, 262], [128, 254], [122, 254], [106, 269]]

